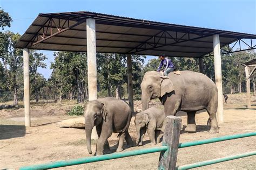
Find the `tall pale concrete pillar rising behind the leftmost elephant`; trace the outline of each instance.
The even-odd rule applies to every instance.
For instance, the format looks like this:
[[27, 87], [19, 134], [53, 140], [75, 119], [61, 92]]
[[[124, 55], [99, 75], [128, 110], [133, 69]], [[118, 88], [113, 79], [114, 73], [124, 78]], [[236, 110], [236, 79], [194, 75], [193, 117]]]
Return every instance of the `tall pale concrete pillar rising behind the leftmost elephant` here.
[[[97, 99], [97, 68], [96, 68], [96, 29], [95, 19], [86, 19], [87, 68], [89, 101]], [[92, 129], [92, 139], [98, 139], [96, 128]]]

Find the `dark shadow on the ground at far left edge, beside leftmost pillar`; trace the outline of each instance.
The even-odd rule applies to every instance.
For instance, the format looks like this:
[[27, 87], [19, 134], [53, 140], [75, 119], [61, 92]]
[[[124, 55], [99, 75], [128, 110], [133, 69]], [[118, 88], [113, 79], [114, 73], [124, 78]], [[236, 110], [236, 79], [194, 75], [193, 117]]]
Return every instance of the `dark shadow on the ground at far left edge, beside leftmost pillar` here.
[[0, 125], [0, 140], [23, 137], [26, 134], [24, 125]]

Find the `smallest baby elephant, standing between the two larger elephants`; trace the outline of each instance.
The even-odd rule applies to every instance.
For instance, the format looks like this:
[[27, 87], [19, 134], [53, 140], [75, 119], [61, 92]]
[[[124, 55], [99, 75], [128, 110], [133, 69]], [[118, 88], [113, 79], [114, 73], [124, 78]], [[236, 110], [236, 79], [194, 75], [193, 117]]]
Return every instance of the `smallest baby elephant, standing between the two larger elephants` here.
[[137, 131], [137, 145], [142, 145], [143, 137], [149, 134], [151, 145], [160, 142], [160, 131], [164, 132], [166, 117], [163, 110], [158, 108], [149, 108], [143, 112], [139, 112], [135, 117], [135, 125]]

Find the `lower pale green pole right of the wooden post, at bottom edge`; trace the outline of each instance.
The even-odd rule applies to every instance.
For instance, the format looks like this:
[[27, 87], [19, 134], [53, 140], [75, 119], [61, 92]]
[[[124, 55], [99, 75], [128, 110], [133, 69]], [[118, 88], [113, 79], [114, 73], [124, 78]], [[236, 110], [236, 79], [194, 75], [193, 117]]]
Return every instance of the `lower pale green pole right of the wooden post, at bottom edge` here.
[[252, 155], [256, 155], [256, 151], [241, 153], [241, 154], [237, 154], [237, 155], [231, 155], [231, 156], [228, 156], [228, 157], [223, 157], [223, 158], [218, 158], [218, 159], [206, 160], [206, 161], [197, 162], [197, 163], [194, 163], [194, 164], [183, 165], [183, 166], [179, 166], [178, 169], [197, 168], [197, 167], [200, 167], [200, 166], [217, 164], [219, 162], [224, 162], [224, 161], [228, 161], [228, 160], [250, 157]]

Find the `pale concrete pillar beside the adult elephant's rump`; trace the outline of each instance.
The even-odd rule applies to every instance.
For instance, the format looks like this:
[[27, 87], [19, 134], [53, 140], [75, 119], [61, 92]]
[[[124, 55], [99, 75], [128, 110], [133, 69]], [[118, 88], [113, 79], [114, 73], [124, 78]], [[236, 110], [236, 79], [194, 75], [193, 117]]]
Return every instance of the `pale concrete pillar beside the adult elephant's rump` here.
[[218, 110], [217, 120], [218, 123], [223, 123], [223, 89], [221, 77], [221, 55], [220, 55], [220, 39], [219, 34], [213, 35], [213, 54], [214, 54], [214, 71], [215, 71], [215, 84], [218, 89]]

